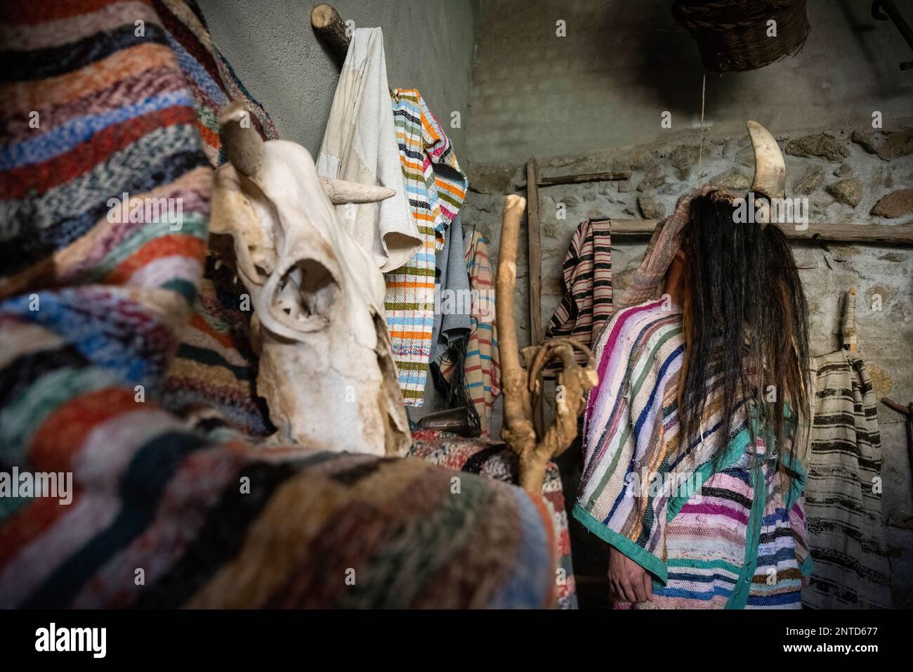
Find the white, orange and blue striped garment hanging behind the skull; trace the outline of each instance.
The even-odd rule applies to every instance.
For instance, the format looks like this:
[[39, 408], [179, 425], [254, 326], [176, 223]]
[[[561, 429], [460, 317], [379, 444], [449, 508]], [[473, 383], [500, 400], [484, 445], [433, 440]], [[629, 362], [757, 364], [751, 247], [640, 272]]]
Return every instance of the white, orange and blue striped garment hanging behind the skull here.
[[406, 194], [422, 248], [385, 274], [384, 308], [406, 406], [422, 406], [435, 325], [435, 253], [466, 197], [468, 182], [443, 127], [415, 89], [392, 93]]

